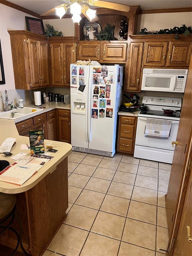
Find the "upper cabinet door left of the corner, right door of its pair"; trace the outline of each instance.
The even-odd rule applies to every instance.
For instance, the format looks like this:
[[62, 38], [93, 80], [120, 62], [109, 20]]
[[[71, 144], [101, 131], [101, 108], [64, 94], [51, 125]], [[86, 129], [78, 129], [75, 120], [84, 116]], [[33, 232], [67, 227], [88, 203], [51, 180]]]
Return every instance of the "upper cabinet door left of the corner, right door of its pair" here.
[[49, 85], [49, 57], [48, 57], [48, 45], [46, 42], [39, 42], [39, 56], [41, 67], [41, 83], [42, 86]]

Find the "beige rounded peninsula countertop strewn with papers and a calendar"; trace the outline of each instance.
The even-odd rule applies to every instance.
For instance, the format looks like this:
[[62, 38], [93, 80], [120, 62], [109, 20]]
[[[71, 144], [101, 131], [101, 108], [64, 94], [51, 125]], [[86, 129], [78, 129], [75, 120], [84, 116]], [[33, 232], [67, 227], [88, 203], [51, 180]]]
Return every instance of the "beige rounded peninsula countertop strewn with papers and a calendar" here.
[[[0, 129], [0, 145], [8, 137], [16, 138], [16, 144], [11, 148], [11, 153], [13, 154], [12, 156], [21, 152], [30, 155], [30, 149], [20, 150], [21, 144], [29, 144], [29, 137], [20, 136], [18, 134], [16, 125], [13, 120], [0, 118]], [[54, 158], [47, 162], [35, 175], [33, 175], [21, 186], [0, 181], [0, 192], [17, 194], [31, 189], [46, 175], [52, 173], [56, 169], [57, 165], [72, 152], [72, 146], [69, 143], [50, 140], [45, 140], [45, 152], [47, 152], [46, 144], [48, 142], [52, 142], [54, 149], [58, 150], [56, 153], [51, 153], [51, 156], [54, 156]], [[9, 156], [5, 157], [3, 153], [0, 153], [0, 160], [7, 160], [10, 164], [15, 162], [15, 160], [11, 159]]]

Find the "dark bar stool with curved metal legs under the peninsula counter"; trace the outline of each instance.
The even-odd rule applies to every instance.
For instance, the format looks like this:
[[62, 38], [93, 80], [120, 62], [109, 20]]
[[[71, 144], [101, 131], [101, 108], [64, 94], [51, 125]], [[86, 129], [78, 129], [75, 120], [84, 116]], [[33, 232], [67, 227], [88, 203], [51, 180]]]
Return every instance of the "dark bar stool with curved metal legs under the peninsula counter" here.
[[[9, 229], [9, 230], [12, 230], [17, 236], [17, 246], [10, 256], [13, 256], [15, 254], [15, 252], [19, 247], [19, 244], [21, 246], [23, 253], [26, 256], [30, 256], [30, 254], [28, 254], [25, 251], [22, 245], [22, 240], [21, 240], [22, 226], [21, 226], [21, 221], [17, 213], [15, 212], [15, 209], [16, 209], [16, 196], [14, 194], [0, 193], [0, 234], [4, 232], [6, 229]], [[14, 220], [14, 217], [16, 217], [19, 223], [19, 234], [14, 228], [10, 227]]]

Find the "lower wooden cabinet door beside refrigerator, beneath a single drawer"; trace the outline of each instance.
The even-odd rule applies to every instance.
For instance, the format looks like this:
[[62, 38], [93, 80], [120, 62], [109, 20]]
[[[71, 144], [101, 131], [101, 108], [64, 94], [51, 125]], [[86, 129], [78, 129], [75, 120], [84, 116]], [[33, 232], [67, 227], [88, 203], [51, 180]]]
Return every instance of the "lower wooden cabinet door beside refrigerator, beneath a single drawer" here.
[[67, 117], [59, 117], [59, 141], [71, 142], [71, 119]]

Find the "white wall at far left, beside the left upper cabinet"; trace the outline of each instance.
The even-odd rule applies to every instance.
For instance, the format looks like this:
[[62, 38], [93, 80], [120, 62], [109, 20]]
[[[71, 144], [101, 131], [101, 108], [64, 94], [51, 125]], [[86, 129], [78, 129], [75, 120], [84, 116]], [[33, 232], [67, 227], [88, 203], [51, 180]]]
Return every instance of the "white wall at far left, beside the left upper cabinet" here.
[[0, 39], [3, 55], [3, 66], [6, 84], [0, 85], [0, 110], [3, 109], [5, 100], [4, 90], [8, 92], [9, 103], [18, 103], [19, 94], [28, 104], [28, 92], [25, 90], [15, 90], [13, 62], [11, 54], [10, 36], [7, 30], [26, 30], [25, 16], [33, 17], [24, 12], [15, 10], [6, 5], [0, 4]]

